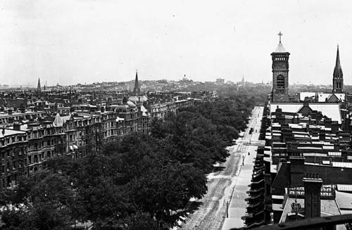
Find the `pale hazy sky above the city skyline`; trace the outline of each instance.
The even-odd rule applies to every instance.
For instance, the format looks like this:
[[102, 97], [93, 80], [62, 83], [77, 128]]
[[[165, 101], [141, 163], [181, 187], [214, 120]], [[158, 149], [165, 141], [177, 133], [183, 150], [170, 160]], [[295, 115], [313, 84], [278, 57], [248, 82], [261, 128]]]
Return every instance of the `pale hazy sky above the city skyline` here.
[[0, 84], [272, 79], [282, 31], [289, 83], [352, 84], [352, 1], [1, 0]]

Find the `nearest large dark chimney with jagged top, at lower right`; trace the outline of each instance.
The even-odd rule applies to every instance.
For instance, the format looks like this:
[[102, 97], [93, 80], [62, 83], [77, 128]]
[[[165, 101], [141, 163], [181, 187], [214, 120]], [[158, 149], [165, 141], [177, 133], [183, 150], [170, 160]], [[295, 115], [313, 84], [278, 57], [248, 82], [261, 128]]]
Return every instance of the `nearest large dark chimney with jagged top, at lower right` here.
[[[305, 219], [320, 217], [320, 190], [322, 188], [322, 179], [318, 178], [318, 174], [310, 178], [311, 174], [303, 178], [304, 184], [304, 210]], [[317, 177], [317, 178], [315, 178]]]

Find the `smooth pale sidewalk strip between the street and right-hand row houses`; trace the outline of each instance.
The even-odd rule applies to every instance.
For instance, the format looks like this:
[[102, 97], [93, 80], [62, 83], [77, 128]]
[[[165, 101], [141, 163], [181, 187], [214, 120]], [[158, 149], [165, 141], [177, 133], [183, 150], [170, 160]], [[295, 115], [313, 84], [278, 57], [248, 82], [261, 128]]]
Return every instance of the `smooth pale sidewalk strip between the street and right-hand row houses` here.
[[[257, 117], [257, 113], [260, 113]], [[263, 107], [256, 110], [256, 113], [253, 113], [255, 122], [253, 123], [253, 135], [251, 140], [258, 141], [259, 130], [260, 130], [260, 119], [263, 114]], [[256, 132], [258, 130], [258, 132]], [[256, 158], [256, 149], [257, 146], [249, 146], [244, 155], [244, 166], [242, 166], [241, 171], [239, 172], [237, 183], [234, 187], [234, 193], [232, 195], [232, 200], [229, 205], [228, 218], [225, 218], [225, 222], [222, 225], [222, 230], [228, 230], [231, 228], [240, 228], [244, 226], [244, 221], [241, 219], [246, 215], [247, 202], [244, 200], [248, 198], [249, 195], [246, 191], [249, 191], [249, 184], [251, 184], [251, 178], [253, 173], [254, 159]], [[248, 152], [251, 155], [248, 155]]]

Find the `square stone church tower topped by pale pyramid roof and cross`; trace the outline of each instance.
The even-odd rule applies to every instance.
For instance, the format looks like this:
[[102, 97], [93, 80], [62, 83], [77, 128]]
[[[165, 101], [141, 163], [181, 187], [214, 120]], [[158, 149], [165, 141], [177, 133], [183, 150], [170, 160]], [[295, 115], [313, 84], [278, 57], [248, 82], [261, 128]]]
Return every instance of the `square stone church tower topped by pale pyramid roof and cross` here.
[[272, 57], [272, 102], [289, 101], [289, 52], [281, 43], [282, 33], [279, 32], [279, 44]]

